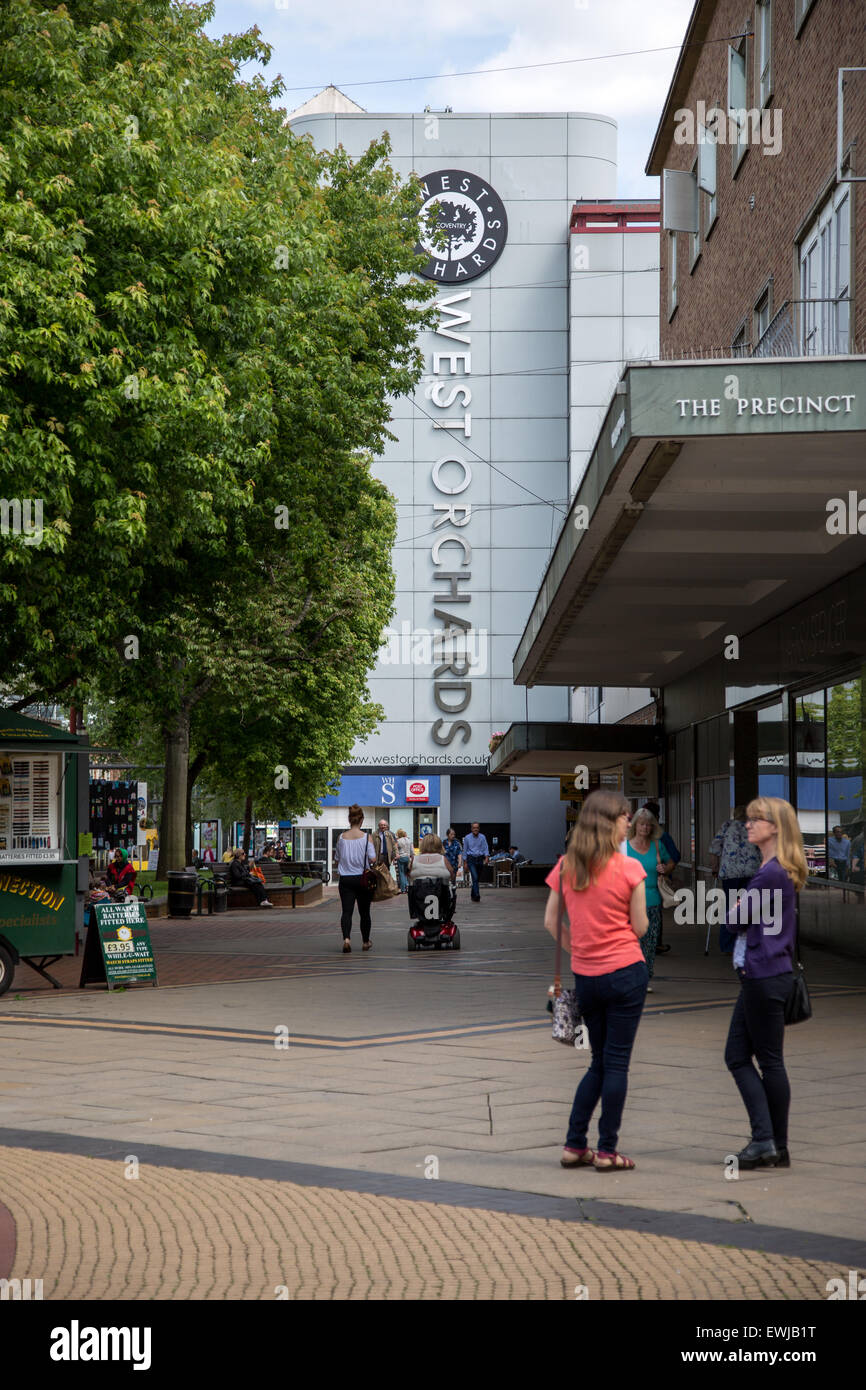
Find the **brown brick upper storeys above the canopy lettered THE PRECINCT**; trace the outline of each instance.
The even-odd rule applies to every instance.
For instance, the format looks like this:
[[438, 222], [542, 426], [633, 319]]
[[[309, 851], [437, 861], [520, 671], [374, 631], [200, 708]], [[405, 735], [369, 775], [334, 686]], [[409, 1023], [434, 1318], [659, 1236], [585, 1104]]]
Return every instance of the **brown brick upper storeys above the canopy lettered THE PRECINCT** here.
[[646, 164], [685, 228], [662, 235], [663, 356], [863, 350], [863, 0], [695, 4]]

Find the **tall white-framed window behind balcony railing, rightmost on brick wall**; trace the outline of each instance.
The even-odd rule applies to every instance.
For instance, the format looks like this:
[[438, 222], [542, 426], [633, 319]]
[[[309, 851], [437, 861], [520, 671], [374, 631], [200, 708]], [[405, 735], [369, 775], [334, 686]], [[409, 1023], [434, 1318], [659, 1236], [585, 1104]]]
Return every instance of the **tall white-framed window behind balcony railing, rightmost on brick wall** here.
[[849, 352], [851, 189], [840, 185], [799, 243], [798, 348], [803, 356]]

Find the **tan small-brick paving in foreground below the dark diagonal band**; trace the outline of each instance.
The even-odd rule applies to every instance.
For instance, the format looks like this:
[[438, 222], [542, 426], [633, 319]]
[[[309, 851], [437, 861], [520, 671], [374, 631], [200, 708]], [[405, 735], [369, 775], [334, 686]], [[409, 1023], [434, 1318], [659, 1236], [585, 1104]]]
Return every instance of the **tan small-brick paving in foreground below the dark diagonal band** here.
[[[46, 1300], [826, 1298], [838, 1264], [482, 1208], [0, 1148]], [[75, 1201], [70, 1195], [75, 1194]]]

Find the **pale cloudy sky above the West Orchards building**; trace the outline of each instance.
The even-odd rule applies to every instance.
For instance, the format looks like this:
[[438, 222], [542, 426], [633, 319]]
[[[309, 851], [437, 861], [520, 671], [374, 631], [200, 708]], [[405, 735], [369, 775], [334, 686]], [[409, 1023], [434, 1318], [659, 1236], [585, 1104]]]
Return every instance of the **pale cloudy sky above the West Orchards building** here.
[[[657, 197], [644, 165], [691, 10], [692, 0], [215, 0], [207, 31], [257, 25], [289, 111], [332, 82], [368, 111], [612, 115], [617, 196]], [[489, 71], [550, 63], [562, 65]]]

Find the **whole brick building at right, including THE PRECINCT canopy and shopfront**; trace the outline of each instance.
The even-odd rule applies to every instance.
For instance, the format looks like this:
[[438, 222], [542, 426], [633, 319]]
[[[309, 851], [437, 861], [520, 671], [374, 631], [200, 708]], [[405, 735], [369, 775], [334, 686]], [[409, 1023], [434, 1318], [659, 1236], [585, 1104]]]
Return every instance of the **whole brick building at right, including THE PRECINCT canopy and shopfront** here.
[[696, 0], [646, 170], [660, 356], [617, 382], [513, 674], [657, 724], [514, 724], [491, 771], [628, 794], [623, 735], [655, 738], [692, 884], [733, 806], [783, 796], [803, 938], [866, 955], [863, 0]]

